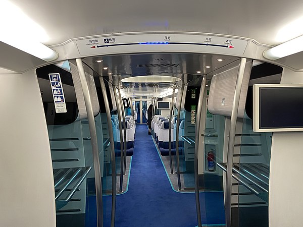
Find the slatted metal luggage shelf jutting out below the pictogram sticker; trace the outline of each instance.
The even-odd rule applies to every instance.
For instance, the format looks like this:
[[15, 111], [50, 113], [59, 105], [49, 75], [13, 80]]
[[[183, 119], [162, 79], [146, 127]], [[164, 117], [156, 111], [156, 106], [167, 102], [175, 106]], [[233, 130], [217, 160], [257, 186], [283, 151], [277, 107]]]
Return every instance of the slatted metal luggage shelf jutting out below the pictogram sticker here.
[[[91, 168], [91, 166], [88, 166], [54, 169], [56, 210], [64, 207], [71, 200], [75, 192], [79, 191], [79, 186], [82, 184]], [[70, 185], [73, 185], [72, 189], [68, 189]], [[59, 197], [67, 191], [69, 191], [67, 196], [64, 199], [59, 199]]]

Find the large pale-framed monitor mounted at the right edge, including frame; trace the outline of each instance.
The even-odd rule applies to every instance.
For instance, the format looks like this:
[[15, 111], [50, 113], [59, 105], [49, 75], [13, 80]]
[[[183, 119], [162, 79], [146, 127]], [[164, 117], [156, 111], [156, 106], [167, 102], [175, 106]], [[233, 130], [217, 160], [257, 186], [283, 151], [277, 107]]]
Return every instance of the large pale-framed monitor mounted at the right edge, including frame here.
[[303, 84], [255, 84], [254, 132], [303, 131]]

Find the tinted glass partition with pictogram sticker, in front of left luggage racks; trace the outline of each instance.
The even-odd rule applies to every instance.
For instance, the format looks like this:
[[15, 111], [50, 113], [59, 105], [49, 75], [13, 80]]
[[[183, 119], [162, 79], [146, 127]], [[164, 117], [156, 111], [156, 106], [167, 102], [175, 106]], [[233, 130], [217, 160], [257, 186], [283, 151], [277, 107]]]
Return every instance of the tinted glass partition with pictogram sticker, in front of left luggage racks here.
[[[40, 86], [54, 169], [57, 226], [92, 226], [97, 217], [89, 204], [90, 179], [94, 178], [87, 126], [80, 120], [71, 67], [68, 62], [36, 70]], [[82, 92], [82, 91], [80, 91]], [[83, 108], [83, 106], [82, 106]], [[100, 149], [100, 156], [103, 156]], [[101, 162], [102, 163], [102, 162]]]

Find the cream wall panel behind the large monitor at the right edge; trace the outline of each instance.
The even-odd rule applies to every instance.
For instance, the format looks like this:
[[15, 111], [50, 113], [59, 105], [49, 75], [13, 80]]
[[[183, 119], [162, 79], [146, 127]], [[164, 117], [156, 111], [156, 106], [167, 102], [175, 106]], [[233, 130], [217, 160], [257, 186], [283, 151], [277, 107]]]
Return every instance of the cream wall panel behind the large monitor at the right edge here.
[[[284, 69], [281, 83], [303, 83], [303, 73]], [[274, 132], [269, 178], [269, 226], [302, 226], [303, 132]]]

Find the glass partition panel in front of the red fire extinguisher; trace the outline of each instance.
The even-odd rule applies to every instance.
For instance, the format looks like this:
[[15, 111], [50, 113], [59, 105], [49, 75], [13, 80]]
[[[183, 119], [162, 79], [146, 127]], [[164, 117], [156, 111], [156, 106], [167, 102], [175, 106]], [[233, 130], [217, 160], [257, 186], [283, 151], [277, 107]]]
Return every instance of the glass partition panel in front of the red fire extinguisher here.
[[[208, 91], [206, 91], [206, 96]], [[207, 108], [208, 98], [205, 107], [205, 129], [201, 134], [204, 137], [204, 160], [200, 168], [199, 187], [204, 193], [207, 226], [225, 225], [225, 209], [223, 194], [223, 171], [217, 163], [223, 162], [223, 143], [225, 117], [213, 115]], [[200, 156], [201, 157], [201, 156]]]

